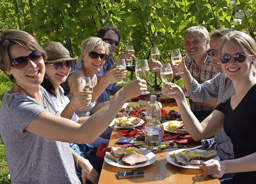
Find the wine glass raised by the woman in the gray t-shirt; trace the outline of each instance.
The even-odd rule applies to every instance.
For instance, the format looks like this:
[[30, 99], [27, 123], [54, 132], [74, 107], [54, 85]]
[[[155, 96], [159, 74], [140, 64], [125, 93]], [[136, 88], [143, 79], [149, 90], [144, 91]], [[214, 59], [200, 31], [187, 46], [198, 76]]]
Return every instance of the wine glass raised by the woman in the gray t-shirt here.
[[[136, 61], [135, 74], [137, 79], [147, 80], [147, 78], [149, 77], [148, 60], [138, 59]], [[143, 91], [141, 94], [145, 95], [147, 93]]]

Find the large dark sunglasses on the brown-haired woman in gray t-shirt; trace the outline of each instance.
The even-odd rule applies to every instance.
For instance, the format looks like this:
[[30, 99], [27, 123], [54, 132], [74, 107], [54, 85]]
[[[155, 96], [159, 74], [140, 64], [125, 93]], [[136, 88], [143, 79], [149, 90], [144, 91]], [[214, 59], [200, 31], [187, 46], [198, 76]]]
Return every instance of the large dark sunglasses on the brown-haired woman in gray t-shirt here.
[[21, 69], [28, 64], [28, 58], [33, 62], [38, 62], [41, 61], [42, 54], [39, 51], [33, 51], [28, 56], [16, 57], [11, 61], [11, 66], [14, 67], [14, 69]]

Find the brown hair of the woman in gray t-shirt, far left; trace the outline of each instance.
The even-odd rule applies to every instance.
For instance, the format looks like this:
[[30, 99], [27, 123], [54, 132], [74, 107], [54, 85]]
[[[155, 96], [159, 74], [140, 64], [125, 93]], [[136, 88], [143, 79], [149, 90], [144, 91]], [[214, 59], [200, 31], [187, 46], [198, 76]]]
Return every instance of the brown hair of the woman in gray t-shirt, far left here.
[[[46, 53], [40, 47], [38, 41], [29, 33], [16, 29], [8, 29], [0, 36], [0, 69], [6, 74], [11, 69], [10, 47], [18, 44], [29, 51], [39, 51], [46, 59]], [[13, 75], [8, 75], [12, 82], [15, 82]]]

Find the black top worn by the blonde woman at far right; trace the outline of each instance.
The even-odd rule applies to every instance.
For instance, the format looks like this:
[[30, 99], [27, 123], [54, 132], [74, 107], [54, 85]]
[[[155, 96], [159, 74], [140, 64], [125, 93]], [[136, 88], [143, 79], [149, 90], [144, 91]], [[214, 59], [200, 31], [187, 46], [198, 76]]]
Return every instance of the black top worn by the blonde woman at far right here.
[[[225, 114], [224, 131], [230, 137], [234, 147], [234, 159], [256, 152], [256, 84], [250, 88], [234, 110], [230, 98], [221, 102], [215, 110]], [[252, 164], [256, 164], [252, 160]], [[223, 183], [256, 183], [256, 171], [235, 173], [233, 180]]]

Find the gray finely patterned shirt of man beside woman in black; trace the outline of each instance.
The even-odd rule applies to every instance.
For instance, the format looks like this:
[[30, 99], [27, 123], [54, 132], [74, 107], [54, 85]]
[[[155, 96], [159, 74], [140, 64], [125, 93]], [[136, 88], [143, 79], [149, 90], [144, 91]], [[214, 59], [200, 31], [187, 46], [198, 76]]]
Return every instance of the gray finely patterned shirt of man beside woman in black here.
[[[208, 102], [218, 98], [218, 104], [225, 98], [232, 96], [235, 93], [232, 80], [226, 82], [224, 73], [219, 73], [213, 79], [202, 84], [198, 84], [193, 80], [190, 90], [185, 92], [185, 95], [195, 102]], [[214, 135], [213, 146], [218, 152], [218, 156], [222, 160], [234, 158], [233, 145], [230, 138], [224, 132], [224, 129]]]

